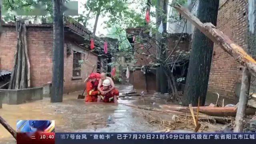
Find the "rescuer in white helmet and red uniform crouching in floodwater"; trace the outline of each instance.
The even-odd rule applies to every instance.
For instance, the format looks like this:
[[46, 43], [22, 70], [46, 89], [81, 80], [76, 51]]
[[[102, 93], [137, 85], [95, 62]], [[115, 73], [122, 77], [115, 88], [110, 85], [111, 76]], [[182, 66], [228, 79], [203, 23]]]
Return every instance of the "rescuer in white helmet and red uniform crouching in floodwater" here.
[[100, 99], [98, 100], [98, 102], [114, 102], [114, 103], [118, 103], [118, 96], [119, 96], [119, 92], [117, 90], [111, 90], [111, 84], [110, 84], [110, 80], [106, 79], [103, 81], [102, 86], [100, 87], [100, 90], [103, 92], [100, 94]]

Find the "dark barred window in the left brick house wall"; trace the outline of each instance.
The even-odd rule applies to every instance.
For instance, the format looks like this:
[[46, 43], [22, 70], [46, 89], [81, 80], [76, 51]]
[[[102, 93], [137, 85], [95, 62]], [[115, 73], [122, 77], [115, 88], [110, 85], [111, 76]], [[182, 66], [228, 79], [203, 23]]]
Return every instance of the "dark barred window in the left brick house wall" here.
[[81, 64], [79, 64], [79, 60], [81, 60], [81, 53], [74, 51], [73, 54], [73, 77], [81, 76]]

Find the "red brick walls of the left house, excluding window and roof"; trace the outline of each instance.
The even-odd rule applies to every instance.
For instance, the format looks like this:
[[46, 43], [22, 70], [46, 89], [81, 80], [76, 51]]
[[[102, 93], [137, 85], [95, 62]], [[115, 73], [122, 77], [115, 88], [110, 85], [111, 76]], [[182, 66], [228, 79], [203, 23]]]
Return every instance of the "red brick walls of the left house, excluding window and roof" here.
[[[31, 86], [43, 86], [52, 81], [53, 31], [50, 27], [29, 27], [27, 29], [28, 55], [31, 65]], [[66, 40], [66, 39], [65, 39]], [[66, 43], [70, 44], [72, 54], [67, 56]], [[14, 27], [4, 27], [0, 37], [0, 59], [2, 70], [12, 70], [16, 50], [16, 32]], [[73, 50], [85, 53], [88, 61], [82, 65], [82, 79], [72, 80]], [[83, 58], [83, 54], [82, 54]], [[97, 56], [79, 48], [74, 42], [65, 41], [64, 47], [64, 92], [73, 92], [84, 88], [86, 74], [92, 72]], [[96, 69], [94, 70], [96, 71]]]

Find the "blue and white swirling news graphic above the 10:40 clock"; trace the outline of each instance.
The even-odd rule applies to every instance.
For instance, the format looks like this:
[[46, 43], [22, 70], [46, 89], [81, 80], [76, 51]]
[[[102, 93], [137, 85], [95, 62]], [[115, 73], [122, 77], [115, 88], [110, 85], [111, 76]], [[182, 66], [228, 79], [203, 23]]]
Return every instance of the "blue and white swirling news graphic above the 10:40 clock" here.
[[54, 132], [54, 120], [18, 120], [17, 132]]

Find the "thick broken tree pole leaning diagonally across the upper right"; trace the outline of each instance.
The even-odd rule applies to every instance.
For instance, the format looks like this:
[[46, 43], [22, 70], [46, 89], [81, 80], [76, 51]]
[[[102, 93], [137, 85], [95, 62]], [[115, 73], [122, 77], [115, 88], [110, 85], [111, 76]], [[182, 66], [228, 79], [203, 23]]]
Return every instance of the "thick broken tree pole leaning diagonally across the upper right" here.
[[211, 23], [202, 23], [196, 16], [191, 14], [189, 10], [181, 5], [173, 6], [182, 16], [190, 21], [198, 30], [204, 33], [215, 44], [218, 44], [220, 48], [226, 51], [228, 54], [236, 58], [236, 60], [242, 65], [248, 68], [252, 75], [256, 76], [256, 60], [249, 56], [241, 46], [235, 44], [226, 34], [218, 30]]

